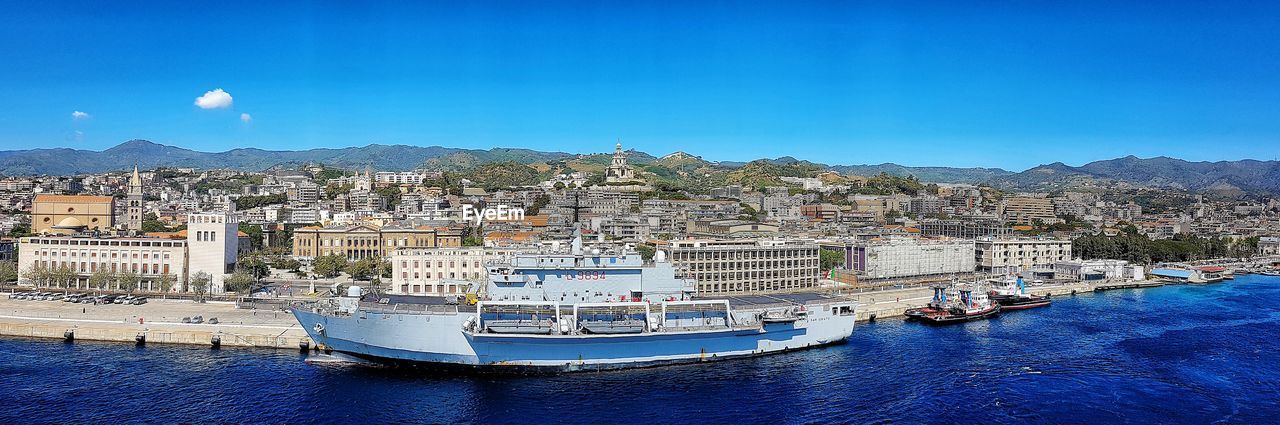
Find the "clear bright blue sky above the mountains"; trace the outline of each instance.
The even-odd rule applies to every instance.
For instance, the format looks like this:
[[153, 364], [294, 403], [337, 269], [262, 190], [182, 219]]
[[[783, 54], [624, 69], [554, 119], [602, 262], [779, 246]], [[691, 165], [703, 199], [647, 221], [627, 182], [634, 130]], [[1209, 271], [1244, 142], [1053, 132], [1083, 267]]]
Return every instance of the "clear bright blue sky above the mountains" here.
[[[0, 6], [0, 150], [621, 138], [713, 160], [1021, 170], [1280, 147], [1275, 1]], [[229, 106], [195, 104], [216, 88]]]

